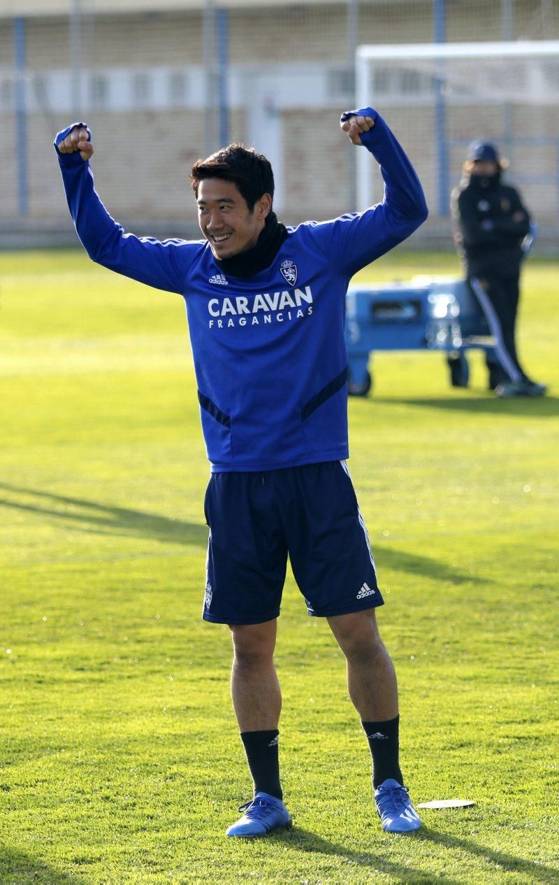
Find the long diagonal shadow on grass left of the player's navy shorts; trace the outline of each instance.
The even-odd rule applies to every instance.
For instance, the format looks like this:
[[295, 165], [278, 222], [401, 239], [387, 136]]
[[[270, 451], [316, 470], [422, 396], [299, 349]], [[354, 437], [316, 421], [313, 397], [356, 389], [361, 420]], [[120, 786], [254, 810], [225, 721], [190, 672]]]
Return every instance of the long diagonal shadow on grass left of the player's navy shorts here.
[[[73, 523], [83, 531], [94, 530], [102, 535], [135, 535], [165, 543], [198, 544], [204, 548], [208, 544], [208, 529], [202, 523], [170, 519], [127, 507], [111, 507], [85, 498], [24, 489], [6, 482], [0, 482], [0, 489], [11, 494], [10, 497], [0, 497], [0, 506], [54, 516], [66, 523]], [[19, 499], [15, 496], [19, 496]]]

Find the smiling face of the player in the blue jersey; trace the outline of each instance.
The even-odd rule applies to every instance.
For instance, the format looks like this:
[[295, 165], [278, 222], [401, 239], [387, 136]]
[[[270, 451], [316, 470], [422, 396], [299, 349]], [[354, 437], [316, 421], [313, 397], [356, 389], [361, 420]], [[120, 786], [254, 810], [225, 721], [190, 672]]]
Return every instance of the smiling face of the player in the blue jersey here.
[[218, 261], [252, 249], [264, 229], [272, 199], [261, 196], [252, 212], [233, 181], [206, 178], [198, 185], [198, 224]]

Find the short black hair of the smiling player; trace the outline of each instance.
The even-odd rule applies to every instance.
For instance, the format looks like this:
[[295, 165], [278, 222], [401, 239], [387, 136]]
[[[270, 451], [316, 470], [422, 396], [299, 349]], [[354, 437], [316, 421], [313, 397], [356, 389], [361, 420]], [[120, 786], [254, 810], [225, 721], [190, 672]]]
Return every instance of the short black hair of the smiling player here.
[[205, 178], [220, 178], [233, 181], [252, 212], [257, 200], [264, 194], [273, 199], [273, 172], [270, 160], [244, 144], [228, 144], [205, 160], [196, 160], [190, 172], [190, 181], [195, 195], [198, 186]]

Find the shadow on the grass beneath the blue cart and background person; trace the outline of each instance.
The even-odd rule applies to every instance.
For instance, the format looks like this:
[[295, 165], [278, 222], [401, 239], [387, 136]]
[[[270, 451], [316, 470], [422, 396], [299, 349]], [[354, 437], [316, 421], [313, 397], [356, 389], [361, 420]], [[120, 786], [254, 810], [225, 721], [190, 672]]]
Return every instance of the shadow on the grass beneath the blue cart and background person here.
[[406, 396], [372, 396], [371, 406], [381, 404], [420, 405], [428, 409], [442, 409], [448, 412], [477, 412], [479, 415], [512, 415], [518, 418], [555, 418], [559, 415], [559, 399], [556, 396], [540, 396], [538, 398], [519, 397], [518, 399], [499, 399], [498, 396], [485, 396], [480, 399], [460, 399], [450, 396], [409, 398]]

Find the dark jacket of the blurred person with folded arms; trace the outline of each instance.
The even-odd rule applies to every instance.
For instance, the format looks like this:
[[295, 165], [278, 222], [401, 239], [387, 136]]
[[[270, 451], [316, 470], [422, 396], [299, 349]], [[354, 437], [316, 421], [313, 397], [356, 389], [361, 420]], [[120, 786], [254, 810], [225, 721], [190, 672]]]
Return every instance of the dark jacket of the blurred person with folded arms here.
[[[468, 276], [517, 274], [522, 241], [530, 230], [530, 215], [518, 191], [490, 178], [466, 175], [453, 190], [450, 207], [455, 242]], [[513, 220], [515, 212], [524, 218]]]

